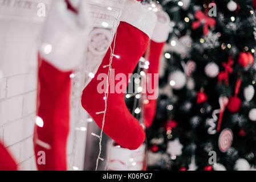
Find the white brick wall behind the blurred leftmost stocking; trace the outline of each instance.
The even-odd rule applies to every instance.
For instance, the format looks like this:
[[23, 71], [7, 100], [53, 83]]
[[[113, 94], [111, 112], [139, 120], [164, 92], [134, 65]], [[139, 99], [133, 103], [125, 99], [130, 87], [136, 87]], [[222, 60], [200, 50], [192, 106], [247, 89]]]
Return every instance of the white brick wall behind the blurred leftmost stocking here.
[[[15, 0], [16, 1], [16, 0]], [[20, 1], [20, 0], [17, 0]], [[33, 3], [51, 0], [26, 0]], [[35, 6], [36, 8], [36, 6]], [[21, 170], [36, 170], [32, 134], [36, 111], [36, 36], [43, 20], [36, 18], [36, 9], [1, 5], [0, 1], [0, 140], [14, 156]], [[80, 109], [79, 106], [72, 110]], [[75, 158], [74, 141], [79, 156], [77, 162], [68, 160], [83, 169], [86, 133], [76, 139], [76, 117], [71, 119], [68, 139], [68, 159]], [[72, 169], [72, 166], [70, 166]]]

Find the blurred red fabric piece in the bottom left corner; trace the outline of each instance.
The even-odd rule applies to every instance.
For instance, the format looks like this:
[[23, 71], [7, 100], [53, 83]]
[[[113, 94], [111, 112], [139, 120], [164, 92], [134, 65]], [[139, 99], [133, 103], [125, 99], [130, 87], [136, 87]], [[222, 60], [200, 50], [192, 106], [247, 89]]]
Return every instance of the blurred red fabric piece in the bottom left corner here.
[[13, 157], [0, 142], [0, 171], [17, 171]]

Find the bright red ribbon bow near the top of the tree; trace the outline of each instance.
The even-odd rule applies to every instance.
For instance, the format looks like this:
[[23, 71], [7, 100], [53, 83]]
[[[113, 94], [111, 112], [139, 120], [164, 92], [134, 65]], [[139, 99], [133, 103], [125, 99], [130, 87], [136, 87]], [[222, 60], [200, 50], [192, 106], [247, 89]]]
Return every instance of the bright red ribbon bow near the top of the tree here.
[[215, 24], [216, 24], [216, 20], [215, 19], [206, 16], [200, 10], [198, 10], [194, 16], [198, 20], [192, 23], [192, 28], [196, 29], [196, 28], [200, 27], [201, 23], [204, 23], [204, 27], [203, 27], [204, 35], [208, 34], [209, 27], [213, 28], [215, 26]]

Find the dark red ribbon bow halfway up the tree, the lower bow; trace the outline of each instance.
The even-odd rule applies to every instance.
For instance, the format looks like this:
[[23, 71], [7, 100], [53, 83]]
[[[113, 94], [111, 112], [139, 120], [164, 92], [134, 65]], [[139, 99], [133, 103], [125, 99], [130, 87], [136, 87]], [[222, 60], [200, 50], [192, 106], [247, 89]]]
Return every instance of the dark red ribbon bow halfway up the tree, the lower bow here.
[[222, 66], [225, 68], [225, 71], [222, 71], [218, 75], [218, 82], [221, 84], [222, 81], [225, 82], [225, 85], [229, 85], [229, 73], [233, 72], [233, 68], [231, 67], [234, 64], [232, 60], [232, 56], [229, 56], [229, 60], [227, 63], [222, 63]]

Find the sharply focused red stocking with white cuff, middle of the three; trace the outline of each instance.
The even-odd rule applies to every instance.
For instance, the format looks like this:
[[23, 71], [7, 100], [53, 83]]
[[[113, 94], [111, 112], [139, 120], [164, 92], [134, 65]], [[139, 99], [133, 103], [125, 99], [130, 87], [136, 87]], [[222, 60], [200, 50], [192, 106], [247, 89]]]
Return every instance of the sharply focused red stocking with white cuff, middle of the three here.
[[[129, 76], [131, 76], [129, 73], [133, 72], [147, 48], [156, 19], [156, 15], [141, 3], [128, 0], [120, 17], [116, 39], [111, 44], [112, 49], [115, 46], [113, 52], [115, 56], [113, 56], [112, 71], [109, 77], [110, 86], [103, 131], [122, 147], [130, 150], [135, 150], [144, 142], [145, 132], [139, 121], [127, 109], [124, 94]], [[83, 90], [82, 95], [82, 106], [100, 129], [104, 116], [102, 111], [105, 110], [104, 92], [109, 69], [105, 65], [109, 65], [110, 56], [111, 49], [109, 48], [95, 77]], [[123, 83], [122, 86], [120, 82]], [[102, 86], [104, 86], [103, 90]]]

